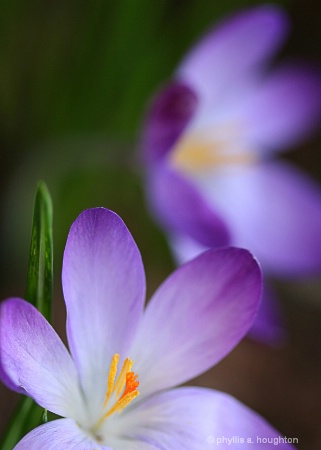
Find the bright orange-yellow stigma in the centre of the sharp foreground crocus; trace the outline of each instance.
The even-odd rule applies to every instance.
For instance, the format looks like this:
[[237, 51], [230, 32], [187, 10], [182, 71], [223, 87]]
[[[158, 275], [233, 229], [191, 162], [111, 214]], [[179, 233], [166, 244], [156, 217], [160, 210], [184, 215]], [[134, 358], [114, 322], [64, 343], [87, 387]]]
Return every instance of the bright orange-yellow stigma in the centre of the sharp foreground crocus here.
[[[116, 411], [121, 412], [139, 395], [139, 392], [137, 391], [139, 386], [139, 381], [137, 380], [138, 375], [131, 371], [134, 362], [129, 358], [126, 358], [121, 371], [116, 378], [118, 363], [119, 354], [116, 353], [111, 359], [107, 379], [107, 391], [103, 404], [105, 412], [99, 419], [96, 429], [100, 428], [107, 417], [111, 416]], [[112, 401], [113, 405], [108, 408], [109, 401]]]

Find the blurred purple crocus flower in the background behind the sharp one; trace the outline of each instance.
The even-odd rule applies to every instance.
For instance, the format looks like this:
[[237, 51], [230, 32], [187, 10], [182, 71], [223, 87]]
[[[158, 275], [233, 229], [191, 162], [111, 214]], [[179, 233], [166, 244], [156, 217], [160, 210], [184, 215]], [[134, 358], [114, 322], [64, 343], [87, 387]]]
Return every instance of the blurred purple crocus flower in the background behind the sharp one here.
[[[269, 69], [287, 34], [273, 6], [243, 11], [187, 55], [154, 99], [143, 132], [150, 207], [182, 262], [208, 247], [249, 248], [266, 276], [321, 270], [321, 192], [280, 150], [315, 127], [320, 78], [299, 65]], [[253, 333], [278, 339], [273, 294]]]

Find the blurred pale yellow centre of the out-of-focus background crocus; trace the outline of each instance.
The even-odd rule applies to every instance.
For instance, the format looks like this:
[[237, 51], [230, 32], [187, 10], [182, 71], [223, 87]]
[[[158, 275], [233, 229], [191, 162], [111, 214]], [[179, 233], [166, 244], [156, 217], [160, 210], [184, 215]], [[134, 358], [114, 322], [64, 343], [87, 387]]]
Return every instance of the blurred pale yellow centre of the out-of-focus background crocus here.
[[229, 142], [226, 140], [186, 135], [174, 148], [171, 162], [174, 167], [194, 174], [218, 166], [243, 165], [255, 161], [255, 153], [252, 151], [230, 153], [229, 150]]

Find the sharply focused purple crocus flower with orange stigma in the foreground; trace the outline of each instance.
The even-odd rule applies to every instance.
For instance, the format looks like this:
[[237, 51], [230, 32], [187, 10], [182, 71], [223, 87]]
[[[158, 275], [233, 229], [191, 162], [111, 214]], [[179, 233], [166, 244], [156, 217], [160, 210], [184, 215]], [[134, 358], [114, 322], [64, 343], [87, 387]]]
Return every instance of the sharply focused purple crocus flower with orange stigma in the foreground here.
[[278, 438], [227, 394], [173, 389], [223, 358], [250, 326], [261, 275], [246, 250], [202, 254], [144, 311], [135, 242], [115, 213], [96, 208], [71, 227], [62, 284], [70, 353], [29, 303], [1, 304], [3, 382], [63, 417], [31, 431], [16, 450], [200, 450], [222, 436], [251, 439], [255, 449], [265, 445], [257, 436]]

